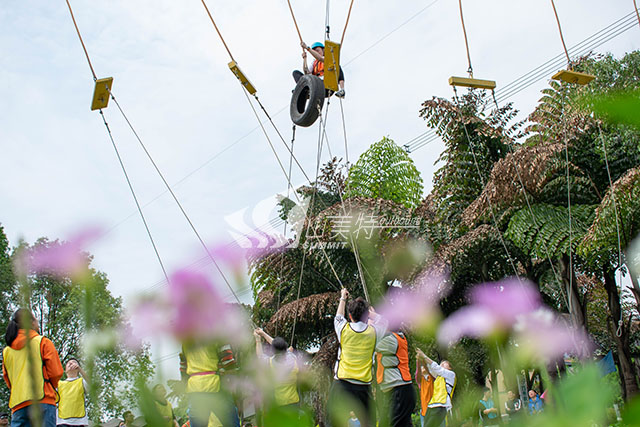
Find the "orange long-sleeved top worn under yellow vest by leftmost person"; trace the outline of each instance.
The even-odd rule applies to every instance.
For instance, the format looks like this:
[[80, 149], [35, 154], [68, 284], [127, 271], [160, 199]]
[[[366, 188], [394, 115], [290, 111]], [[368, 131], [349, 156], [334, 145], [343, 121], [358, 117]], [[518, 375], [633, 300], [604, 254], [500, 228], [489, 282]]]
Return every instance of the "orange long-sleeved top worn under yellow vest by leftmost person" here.
[[[36, 331], [29, 331], [30, 339], [33, 339], [38, 336]], [[18, 336], [11, 343], [11, 348], [14, 350], [20, 350], [27, 344], [27, 336], [25, 334], [24, 329], [20, 329], [18, 331]], [[62, 378], [62, 374], [64, 370], [62, 369], [62, 364], [60, 363], [60, 357], [58, 356], [58, 352], [54, 347], [53, 343], [49, 338], [42, 338], [42, 342], [40, 343], [40, 354], [42, 355], [42, 373], [44, 374], [45, 383], [44, 383], [44, 398], [40, 401], [40, 403], [46, 403], [49, 405], [56, 404], [56, 388], [58, 387], [58, 381]], [[9, 380], [9, 375], [7, 374], [7, 370], [2, 364], [2, 376], [4, 377], [4, 382], [7, 383], [9, 389], [11, 389], [11, 381]], [[33, 402], [22, 402], [19, 405], [16, 405], [15, 408], [11, 408], [11, 413], [14, 413], [18, 409], [22, 409], [26, 406], [31, 405]]]

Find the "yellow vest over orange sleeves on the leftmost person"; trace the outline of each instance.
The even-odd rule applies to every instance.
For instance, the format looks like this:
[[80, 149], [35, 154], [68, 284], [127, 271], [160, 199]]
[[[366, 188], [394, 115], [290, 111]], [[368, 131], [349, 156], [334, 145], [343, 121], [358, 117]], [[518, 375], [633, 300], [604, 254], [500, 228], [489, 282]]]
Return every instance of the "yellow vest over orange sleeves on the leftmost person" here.
[[[43, 361], [40, 352], [42, 335], [38, 335], [29, 340], [28, 344], [20, 350], [14, 350], [7, 346], [2, 352], [4, 366], [11, 382], [11, 395], [9, 396], [9, 407], [15, 408], [19, 404], [27, 401], [39, 401], [44, 398], [44, 373], [42, 372]], [[29, 354], [27, 347], [31, 351], [31, 360], [35, 363], [29, 372]], [[34, 384], [35, 381], [35, 384]], [[34, 395], [34, 390], [37, 390]]]

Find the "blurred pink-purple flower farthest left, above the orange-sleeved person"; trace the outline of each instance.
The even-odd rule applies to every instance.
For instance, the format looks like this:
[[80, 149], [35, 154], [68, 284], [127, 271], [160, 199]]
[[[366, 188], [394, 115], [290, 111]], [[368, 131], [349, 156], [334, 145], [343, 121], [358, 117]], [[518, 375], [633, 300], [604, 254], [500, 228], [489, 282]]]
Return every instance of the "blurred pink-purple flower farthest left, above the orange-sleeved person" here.
[[87, 254], [83, 249], [100, 235], [98, 228], [88, 228], [62, 243], [36, 243], [18, 256], [16, 271], [23, 275], [48, 273], [79, 279], [86, 274], [88, 265]]

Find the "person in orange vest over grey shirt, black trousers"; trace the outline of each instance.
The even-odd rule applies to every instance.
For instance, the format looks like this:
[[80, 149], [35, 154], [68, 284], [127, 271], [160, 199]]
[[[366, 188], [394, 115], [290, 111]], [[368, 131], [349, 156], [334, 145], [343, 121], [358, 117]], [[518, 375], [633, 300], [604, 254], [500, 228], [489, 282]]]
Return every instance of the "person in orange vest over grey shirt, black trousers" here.
[[376, 382], [387, 395], [389, 425], [412, 427], [416, 391], [409, 370], [409, 343], [401, 331], [387, 334], [376, 345]]

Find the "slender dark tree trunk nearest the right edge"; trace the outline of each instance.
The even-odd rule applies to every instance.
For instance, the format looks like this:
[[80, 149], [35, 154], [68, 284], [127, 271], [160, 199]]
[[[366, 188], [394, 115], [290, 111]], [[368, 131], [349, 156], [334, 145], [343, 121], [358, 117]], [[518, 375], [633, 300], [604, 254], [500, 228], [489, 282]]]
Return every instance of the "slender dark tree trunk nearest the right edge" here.
[[[609, 313], [613, 320], [613, 339], [618, 350], [618, 366], [620, 370], [620, 379], [622, 381], [622, 393], [625, 400], [631, 399], [638, 393], [638, 382], [631, 361], [629, 351], [629, 329], [622, 319], [622, 307], [620, 305], [620, 294], [616, 284], [615, 272], [611, 269], [604, 270], [604, 287], [607, 291], [607, 300], [609, 305]], [[622, 323], [619, 323], [620, 320]], [[619, 335], [619, 336], [618, 336]]]

